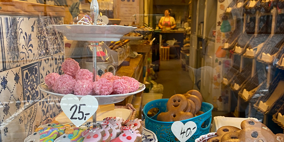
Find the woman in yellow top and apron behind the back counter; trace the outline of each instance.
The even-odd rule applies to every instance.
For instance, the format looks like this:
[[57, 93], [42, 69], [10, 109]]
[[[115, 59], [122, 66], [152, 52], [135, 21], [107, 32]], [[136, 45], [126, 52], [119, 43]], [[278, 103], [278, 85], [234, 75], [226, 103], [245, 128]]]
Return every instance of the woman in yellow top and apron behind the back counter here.
[[174, 17], [171, 17], [170, 14], [171, 14], [170, 9], [165, 10], [165, 16], [163, 16], [160, 19], [159, 24], [158, 24], [160, 29], [162, 29], [164, 26], [166, 28], [171, 28], [171, 29], [176, 27], [176, 20]]

